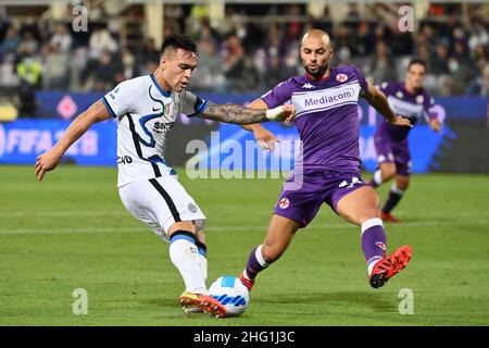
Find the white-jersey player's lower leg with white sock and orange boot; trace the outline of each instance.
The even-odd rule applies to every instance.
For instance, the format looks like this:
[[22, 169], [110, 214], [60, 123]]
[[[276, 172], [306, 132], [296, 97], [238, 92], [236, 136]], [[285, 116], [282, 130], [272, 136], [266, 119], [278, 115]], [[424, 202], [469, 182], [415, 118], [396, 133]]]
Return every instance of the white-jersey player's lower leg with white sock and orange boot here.
[[170, 258], [184, 278], [185, 291], [179, 297], [184, 310], [187, 312], [198, 308], [212, 316], [225, 316], [224, 306], [208, 294], [199, 264], [196, 235], [190, 231], [174, 231], [170, 239]]

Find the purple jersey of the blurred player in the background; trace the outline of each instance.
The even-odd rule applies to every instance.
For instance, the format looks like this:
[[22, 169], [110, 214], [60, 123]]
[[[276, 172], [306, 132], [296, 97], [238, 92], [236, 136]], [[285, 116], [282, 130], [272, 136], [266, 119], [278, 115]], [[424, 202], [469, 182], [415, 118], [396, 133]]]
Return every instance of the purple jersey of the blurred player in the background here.
[[[392, 111], [400, 116], [409, 119], [413, 125], [422, 117], [425, 120], [436, 117], [436, 114], [429, 112], [435, 101], [424, 88], [421, 88], [412, 95], [405, 89], [404, 83], [401, 82], [384, 83], [380, 85], [380, 90], [386, 95]], [[410, 130], [410, 127], [399, 127], [388, 123], [384, 119], [377, 128], [377, 136], [387, 136], [393, 140], [403, 140], [408, 137]]]

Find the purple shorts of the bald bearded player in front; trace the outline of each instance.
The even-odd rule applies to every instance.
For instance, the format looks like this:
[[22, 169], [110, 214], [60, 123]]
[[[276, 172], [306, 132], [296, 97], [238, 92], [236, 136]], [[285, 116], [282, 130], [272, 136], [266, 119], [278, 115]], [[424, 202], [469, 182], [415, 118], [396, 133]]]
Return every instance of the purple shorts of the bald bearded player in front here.
[[274, 213], [305, 227], [325, 202], [337, 212], [338, 201], [365, 186], [360, 173], [305, 170], [302, 177], [291, 175], [278, 197]]

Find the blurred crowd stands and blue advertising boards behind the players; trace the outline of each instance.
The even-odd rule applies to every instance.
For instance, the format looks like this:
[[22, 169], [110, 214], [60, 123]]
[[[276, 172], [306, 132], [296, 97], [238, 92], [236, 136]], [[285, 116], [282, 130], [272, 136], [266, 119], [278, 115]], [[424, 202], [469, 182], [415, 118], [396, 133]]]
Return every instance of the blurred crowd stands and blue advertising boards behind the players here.
[[[0, 8], [0, 120], [23, 122], [0, 125], [0, 163], [33, 163], [66, 126], [61, 120], [73, 119], [117, 83], [152, 72], [158, 48], [172, 33], [186, 32], [199, 44], [200, 66], [191, 90], [215, 102], [247, 103], [302, 73], [299, 38], [308, 28], [321, 27], [333, 36], [333, 64], [355, 64], [374, 84], [402, 79], [412, 57], [429, 62], [426, 88], [436, 97], [436, 112], [447, 127], [441, 135], [429, 132], [426, 124], [412, 132], [414, 172], [488, 172], [489, 4], [414, 1], [415, 30], [403, 33], [398, 4], [260, 2], [4, 4]], [[86, 5], [87, 32], [76, 27], [80, 24], [77, 4]], [[372, 134], [379, 116], [362, 107], [362, 159], [365, 170], [372, 171], [376, 158]], [[52, 121], [40, 121], [45, 119]], [[192, 156], [185, 153], [190, 139], [209, 141], [210, 132], [220, 127], [189, 123], [184, 115], [179, 123], [185, 126], [175, 128], [166, 156], [172, 165], [183, 165]], [[96, 128], [95, 144], [86, 140], [87, 151], [77, 151], [67, 161], [114, 165], [113, 151], [101, 150], [115, 147], [114, 126], [100, 127], [103, 134]], [[297, 136], [287, 127], [274, 130], [280, 138]], [[239, 141], [247, 139], [251, 135]]]

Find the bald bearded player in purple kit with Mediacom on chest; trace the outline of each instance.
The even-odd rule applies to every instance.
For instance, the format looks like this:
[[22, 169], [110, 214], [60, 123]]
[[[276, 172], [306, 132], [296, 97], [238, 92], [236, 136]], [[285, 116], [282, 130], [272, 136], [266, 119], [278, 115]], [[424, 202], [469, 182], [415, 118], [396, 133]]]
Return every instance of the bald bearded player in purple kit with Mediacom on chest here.
[[[381, 287], [405, 268], [411, 248], [404, 246], [386, 254], [378, 197], [361, 177], [359, 97], [365, 98], [391, 124], [411, 127], [411, 123], [392, 112], [386, 96], [368, 85], [359, 69], [329, 66], [333, 47], [325, 32], [308, 32], [300, 53], [306, 74], [277, 85], [249, 105], [272, 109], [290, 101], [297, 110], [294, 123], [302, 140], [303, 159], [296, 162], [284, 185], [265, 240], [251, 251], [240, 279], [251, 289], [258, 273], [286, 251], [296, 232], [305, 227], [326, 202], [344, 220], [361, 226], [369, 283], [375, 288]], [[255, 137], [267, 133], [260, 124], [244, 128], [252, 129]], [[268, 134], [268, 139], [273, 138]], [[300, 188], [294, 182], [297, 175], [302, 175]]]

